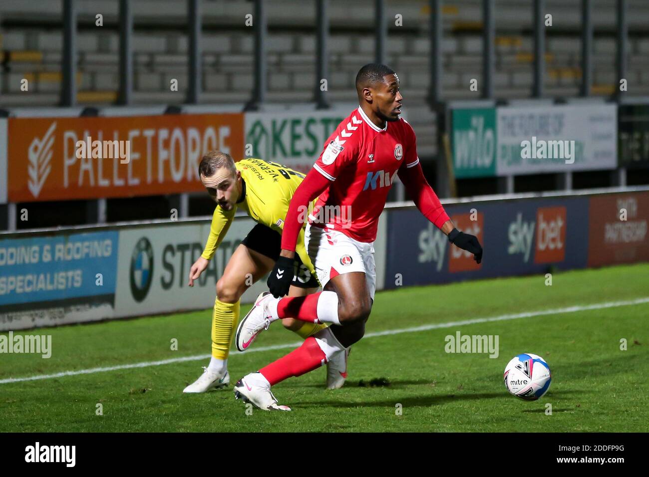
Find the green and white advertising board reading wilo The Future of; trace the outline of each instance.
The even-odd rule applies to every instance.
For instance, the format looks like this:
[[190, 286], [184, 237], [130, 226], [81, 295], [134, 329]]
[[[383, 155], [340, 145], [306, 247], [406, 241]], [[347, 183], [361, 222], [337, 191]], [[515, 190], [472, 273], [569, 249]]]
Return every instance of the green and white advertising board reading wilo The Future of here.
[[458, 178], [615, 169], [617, 106], [452, 110]]

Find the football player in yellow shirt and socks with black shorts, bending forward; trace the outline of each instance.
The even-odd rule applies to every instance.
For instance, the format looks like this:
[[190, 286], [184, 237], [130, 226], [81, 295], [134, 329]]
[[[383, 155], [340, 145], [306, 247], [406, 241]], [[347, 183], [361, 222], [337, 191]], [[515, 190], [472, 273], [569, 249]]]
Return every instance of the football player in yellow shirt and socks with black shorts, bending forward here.
[[[217, 206], [205, 249], [191, 266], [190, 287], [207, 268], [208, 261], [230, 228], [237, 208], [245, 210], [257, 225], [234, 251], [216, 284], [212, 312], [212, 359], [208, 367], [203, 368], [201, 376], [188, 385], [183, 393], [204, 393], [229, 384], [227, 361], [239, 320], [239, 299], [249, 286], [273, 269], [280, 254], [284, 217], [304, 174], [261, 159], [234, 162], [227, 153], [210, 151], [199, 164], [199, 177]], [[317, 291], [319, 283], [304, 248], [304, 228], [300, 231], [295, 258], [297, 273], [293, 276], [289, 296], [299, 297]], [[304, 339], [325, 326], [292, 318], [286, 318], [282, 323]], [[327, 363], [327, 389], [341, 387], [347, 377], [347, 354], [339, 355]]]

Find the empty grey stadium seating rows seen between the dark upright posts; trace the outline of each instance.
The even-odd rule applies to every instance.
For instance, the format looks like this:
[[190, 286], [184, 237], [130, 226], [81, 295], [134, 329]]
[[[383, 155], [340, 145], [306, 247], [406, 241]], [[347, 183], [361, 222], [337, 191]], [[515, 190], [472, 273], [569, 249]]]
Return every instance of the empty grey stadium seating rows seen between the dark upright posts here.
[[[162, 0], [165, 8], [147, 8], [153, 3], [133, 3], [134, 11], [134, 104], [183, 103], [188, 84], [188, 37], [184, 2]], [[36, 4], [40, 6], [36, 6]], [[578, 21], [579, 2], [565, 5], [548, 1], [554, 12], [554, 25], [546, 38], [545, 86], [548, 97], [577, 95], [581, 80], [581, 39]], [[5, 72], [0, 75], [0, 103], [12, 106], [53, 106], [61, 88], [62, 27], [60, 2], [3, 1], [0, 19]], [[106, 5], [98, 0], [79, 3], [77, 38], [77, 101], [80, 104], [114, 103], [119, 89], [119, 34], [117, 2]], [[315, 79], [315, 35], [308, 29], [292, 29], [295, 21], [313, 25], [315, 10], [306, 5], [299, 12], [282, 8], [282, 1], [267, 8], [269, 34], [267, 55], [267, 101], [301, 103], [312, 101]], [[315, 4], [315, 3], [313, 3]], [[521, 14], [521, 4], [529, 6]], [[205, 0], [202, 36], [202, 101], [206, 103], [245, 103], [251, 97], [254, 81], [252, 29], [243, 26], [245, 12], [252, 4], [240, 0]], [[386, 18], [400, 13], [404, 26], [391, 27], [386, 45], [387, 64], [395, 68], [407, 93], [408, 114], [417, 130], [421, 154], [434, 154], [430, 124], [434, 116], [424, 106], [428, 92], [430, 40], [428, 5], [422, 1], [387, 2]], [[44, 8], [44, 11], [43, 11]], [[110, 10], [106, 10], [110, 8]], [[532, 2], [496, 2], [496, 97], [516, 99], [532, 91], [533, 43], [530, 33]], [[29, 13], [32, 11], [33, 16]], [[38, 11], [38, 16], [36, 12]], [[95, 27], [94, 12], [102, 12], [104, 26]], [[218, 12], [218, 14], [217, 14]], [[609, 95], [615, 88], [616, 42], [615, 2], [594, 1], [593, 94]], [[361, 64], [374, 60], [373, 1], [348, 3], [332, 0], [329, 6], [332, 33], [328, 40], [329, 99], [354, 101], [354, 75]], [[637, 37], [649, 24], [649, 3], [630, 2], [630, 54], [628, 81], [634, 95], [649, 93], [649, 40]], [[29, 20], [34, 25], [25, 27]], [[448, 99], [471, 99], [471, 79], [482, 82], [482, 11], [478, 0], [445, 3], [443, 7], [443, 94]], [[38, 20], [38, 21], [37, 21]], [[643, 23], [644, 21], [644, 23]], [[43, 26], [46, 25], [46, 26]], [[572, 30], [571, 30], [571, 27]], [[554, 31], [556, 29], [556, 31]], [[21, 79], [28, 79], [30, 93], [20, 92]], [[178, 92], [169, 88], [178, 80]], [[413, 104], [420, 106], [411, 107]], [[410, 106], [410, 107], [409, 107]], [[421, 111], [413, 111], [421, 108]], [[419, 123], [419, 121], [422, 121]]]

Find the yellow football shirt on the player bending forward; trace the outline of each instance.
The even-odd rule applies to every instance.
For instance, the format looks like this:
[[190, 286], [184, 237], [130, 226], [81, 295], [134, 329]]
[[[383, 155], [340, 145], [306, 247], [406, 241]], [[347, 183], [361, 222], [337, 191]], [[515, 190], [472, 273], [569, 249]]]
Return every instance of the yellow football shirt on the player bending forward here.
[[[241, 172], [241, 178], [245, 181], [245, 197], [227, 212], [218, 205], [214, 209], [210, 236], [201, 255], [206, 260], [214, 256], [239, 207], [256, 223], [268, 226], [281, 234], [291, 197], [304, 178], [304, 174], [289, 167], [256, 158], [242, 159], [235, 162], [234, 166]], [[304, 248], [304, 226], [300, 230], [295, 252], [311, 274], [317, 276]]]

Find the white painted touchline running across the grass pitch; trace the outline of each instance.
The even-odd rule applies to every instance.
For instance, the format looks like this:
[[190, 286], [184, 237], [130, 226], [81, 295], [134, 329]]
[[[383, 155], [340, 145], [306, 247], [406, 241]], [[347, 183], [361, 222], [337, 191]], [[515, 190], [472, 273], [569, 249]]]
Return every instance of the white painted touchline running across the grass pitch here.
[[[464, 324], [476, 324], [476, 323], [489, 323], [491, 321], [503, 321], [503, 320], [513, 320], [519, 318], [531, 318], [535, 316], [543, 315], [556, 315], [559, 313], [574, 313], [574, 312], [585, 312], [587, 310], [602, 310], [604, 308], [615, 308], [617, 306], [630, 306], [649, 303], [649, 297], [639, 298], [635, 300], [622, 300], [622, 301], [613, 301], [613, 302], [604, 302], [592, 305], [576, 305], [576, 306], [567, 306], [565, 308], [555, 308], [554, 310], [541, 310], [538, 312], [524, 312], [524, 313], [512, 313], [509, 315], [499, 315], [495, 317], [487, 318], [474, 318], [469, 320], [462, 321], [450, 321], [448, 323], [435, 323], [435, 324], [424, 324], [422, 326], [414, 326], [412, 328], [402, 328], [400, 330], [386, 330], [378, 331], [373, 333], [365, 334], [364, 338], [371, 338], [376, 336], [387, 336], [387, 335], [396, 335], [401, 333], [415, 333], [419, 331], [428, 331], [428, 330], [437, 330], [439, 328], [452, 328], [453, 326], [461, 326]], [[247, 354], [252, 352], [262, 352], [270, 351], [276, 349], [286, 349], [286, 348], [295, 348], [301, 345], [301, 341], [295, 343], [286, 343], [284, 345], [273, 345], [265, 346], [259, 348], [253, 348], [246, 351]], [[231, 354], [241, 354], [241, 352], [233, 351]], [[93, 374], [93, 373], [104, 373], [106, 371], [117, 371], [119, 369], [132, 369], [132, 368], [144, 368], [149, 366], [160, 366], [164, 364], [171, 363], [182, 363], [183, 361], [199, 361], [207, 360], [212, 356], [211, 354], [197, 354], [195, 356], [184, 356], [183, 358], [170, 358], [169, 360], [160, 360], [160, 361], [144, 361], [142, 363], [132, 363], [132, 364], [123, 364], [117, 366], [108, 366], [100, 368], [90, 368], [90, 369], [79, 369], [77, 371], [62, 371], [61, 373], [55, 374], [38, 374], [37, 376], [27, 376], [25, 378], [5, 378], [0, 380], [0, 384], [16, 383], [21, 381], [35, 381], [40, 379], [51, 379], [51, 378], [62, 378], [63, 376], [77, 376], [78, 374]]]

